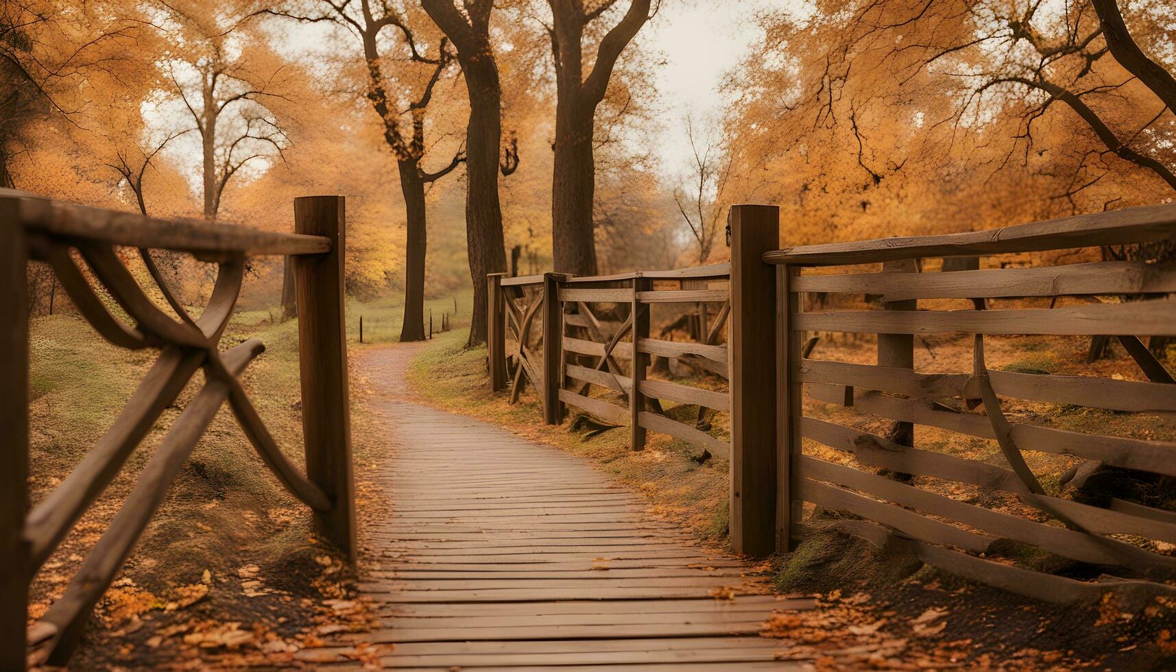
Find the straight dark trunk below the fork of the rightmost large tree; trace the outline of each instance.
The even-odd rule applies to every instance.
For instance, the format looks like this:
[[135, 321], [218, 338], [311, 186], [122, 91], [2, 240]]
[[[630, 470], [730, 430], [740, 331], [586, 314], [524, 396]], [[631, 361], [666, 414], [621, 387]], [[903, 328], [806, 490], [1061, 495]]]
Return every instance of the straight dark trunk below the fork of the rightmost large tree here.
[[552, 179], [552, 244], [556, 273], [596, 274], [593, 195], [594, 106], [560, 93], [555, 109], [555, 167]]

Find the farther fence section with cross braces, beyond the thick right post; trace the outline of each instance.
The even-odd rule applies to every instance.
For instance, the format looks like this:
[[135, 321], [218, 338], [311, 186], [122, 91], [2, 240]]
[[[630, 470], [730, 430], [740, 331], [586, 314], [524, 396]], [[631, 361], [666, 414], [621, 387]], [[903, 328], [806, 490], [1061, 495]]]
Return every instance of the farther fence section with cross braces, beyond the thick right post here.
[[[650, 355], [689, 361], [728, 377], [723, 327], [730, 312], [729, 265], [615, 275], [572, 277], [557, 273], [489, 282], [489, 370], [494, 390], [509, 386], [516, 402], [526, 385], [539, 393], [547, 424], [557, 425], [564, 407], [613, 426], [628, 426], [632, 450], [654, 431], [728, 458], [729, 444], [697, 427], [703, 408], [728, 412], [729, 394], [667, 380], [648, 379]], [[717, 305], [706, 322], [702, 342], [650, 338], [654, 304]], [[509, 352], [508, 352], [509, 345]], [[593, 397], [590, 388], [614, 400]], [[697, 406], [688, 424], [669, 418], [661, 401]], [[623, 404], [623, 406], [622, 406]]]

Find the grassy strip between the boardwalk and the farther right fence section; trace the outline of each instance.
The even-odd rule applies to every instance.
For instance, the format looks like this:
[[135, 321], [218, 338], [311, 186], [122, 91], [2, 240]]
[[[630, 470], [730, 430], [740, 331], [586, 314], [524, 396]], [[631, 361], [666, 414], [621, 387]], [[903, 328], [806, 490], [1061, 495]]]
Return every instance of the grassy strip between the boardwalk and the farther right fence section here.
[[[516, 405], [508, 404], [506, 394], [489, 391], [486, 348], [467, 350], [465, 339], [465, 330], [440, 335], [413, 360], [409, 384], [421, 400], [586, 458], [642, 492], [656, 513], [681, 523], [700, 539], [726, 544], [728, 465], [724, 460], [710, 459], [700, 465], [691, 459], [697, 448], [654, 432], [648, 434], [644, 451], [633, 452], [626, 427], [584, 440], [581, 433], [570, 431], [572, 413], [560, 426], [544, 426], [539, 399], [529, 387]], [[724, 425], [726, 419], [716, 418], [715, 424]]]

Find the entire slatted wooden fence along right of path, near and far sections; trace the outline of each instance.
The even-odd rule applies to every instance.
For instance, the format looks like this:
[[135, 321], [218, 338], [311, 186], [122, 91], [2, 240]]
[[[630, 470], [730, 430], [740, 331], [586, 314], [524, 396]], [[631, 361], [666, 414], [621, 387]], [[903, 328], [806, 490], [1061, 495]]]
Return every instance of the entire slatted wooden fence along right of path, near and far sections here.
[[[548, 274], [502, 281], [532, 287], [528, 308], [521, 311], [523, 319], [517, 322], [524, 341], [527, 314], [542, 313], [554, 322], [550, 328], [544, 325], [542, 364], [534, 361], [534, 346], [517, 359], [529, 362], [522, 375], [540, 385], [548, 423], [559, 423], [560, 404], [568, 404], [615, 424], [627, 420], [635, 448], [642, 445], [644, 430], [708, 445], [714, 437], [701, 439], [691, 427], [670, 425], [656, 410], [642, 407], [643, 400], [729, 407], [731, 544], [748, 554], [793, 547], [810, 528], [803, 520], [803, 505], [810, 503], [864, 519], [846, 526], [880, 543], [904, 546], [931, 565], [1042, 599], [1096, 599], [1108, 587], [1135, 590], [1145, 585], [1151, 590], [1156, 584], [1078, 581], [980, 555], [995, 541], [1008, 539], [1132, 579], [1176, 577], [1176, 558], [1145, 547], [1145, 540], [1176, 544], [1176, 512], [1121, 498], [1110, 498], [1105, 506], [1063, 499], [1057, 486], [1047, 490], [1042, 485], [1022, 453], [1062, 454], [1176, 477], [1176, 443], [1034, 425], [1010, 417], [1002, 404], [1002, 398], [1013, 398], [1170, 417], [1176, 412], [1174, 379], [1141, 337], [1176, 334], [1176, 299], [1168, 298], [1176, 293], [1176, 266], [1100, 261], [1001, 268], [994, 262], [989, 264], [994, 267], [981, 268], [973, 260], [965, 270], [946, 264], [950, 272], [921, 272], [920, 266], [920, 260], [928, 258], [1010, 254], [1020, 255], [1023, 264], [1048, 257], [1030, 253], [1172, 239], [1176, 204], [974, 233], [784, 249], [779, 249], [775, 207], [735, 206], [729, 222], [726, 347], [648, 337], [643, 305], [720, 299], [709, 291], [653, 290], [649, 282], [656, 274]], [[838, 268], [828, 268], [831, 266]], [[809, 294], [822, 299], [809, 300], [811, 305], [827, 297], [835, 298], [834, 305], [853, 302], [838, 301], [838, 295], [856, 297], [858, 304], [864, 294], [878, 300], [867, 310], [814, 312], [804, 310]], [[500, 300], [492, 292], [492, 300]], [[1058, 297], [1074, 299], [1055, 305]], [[1097, 301], [1095, 297], [1108, 299]], [[963, 305], [953, 306], [951, 300]], [[632, 305], [629, 317], [610, 332], [612, 338], [606, 338], [609, 332], [601, 320], [594, 324], [588, 308], [594, 302]], [[1037, 304], [1041, 307], [1025, 307]], [[575, 314], [569, 306], [579, 307]], [[964, 310], [957, 310], [961, 307]], [[495, 312], [490, 315], [493, 324]], [[593, 338], [564, 335], [562, 324], [573, 320], [593, 332]], [[626, 328], [633, 334], [628, 342], [619, 340]], [[836, 332], [877, 334], [876, 364], [813, 358], [811, 337]], [[973, 335], [968, 370], [915, 371], [915, 335], [948, 333]], [[985, 337], [991, 340], [994, 335], [1117, 337], [1147, 381], [989, 370], [984, 345]], [[505, 380], [506, 358], [494, 350], [501, 344], [492, 342], [490, 370], [503, 372]], [[596, 358], [596, 365], [569, 365], [570, 353]], [[621, 362], [649, 353], [701, 355], [728, 366], [729, 399], [646, 380], [643, 361], [623, 373]], [[559, 384], [544, 386], [543, 380]], [[628, 408], [588, 398], [568, 388], [568, 381], [628, 394]], [[813, 405], [830, 413], [806, 417], [804, 408]], [[880, 435], [849, 426], [848, 420], [823, 419], [843, 418], [849, 412], [890, 423], [890, 431]], [[950, 444], [947, 448], [916, 447], [920, 426], [954, 432], [962, 440], [993, 440], [1001, 464], [962, 457]], [[830, 448], [837, 458], [829, 458]], [[888, 472], [902, 475], [890, 478]], [[931, 485], [940, 486], [938, 492]], [[965, 501], [941, 492], [970, 494]], [[991, 506], [991, 501], [1009, 495], [1023, 505]]]

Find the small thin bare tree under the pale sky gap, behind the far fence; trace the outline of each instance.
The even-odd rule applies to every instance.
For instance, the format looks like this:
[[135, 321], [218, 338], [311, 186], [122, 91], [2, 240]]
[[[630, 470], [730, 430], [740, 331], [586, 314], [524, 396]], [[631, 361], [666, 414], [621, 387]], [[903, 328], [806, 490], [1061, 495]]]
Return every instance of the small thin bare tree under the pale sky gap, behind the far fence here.
[[694, 126], [694, 118], [687, 117], [686, 135], [690, 140], [691, 155], [684, 182], [689, 189], [686, 186], [674, 189], [674, 202], [697, 245], [699, 264], [706, 264], [721, 228], [721, 199], [730, 177], [731, 159], [713, 134], [699, 138]]

